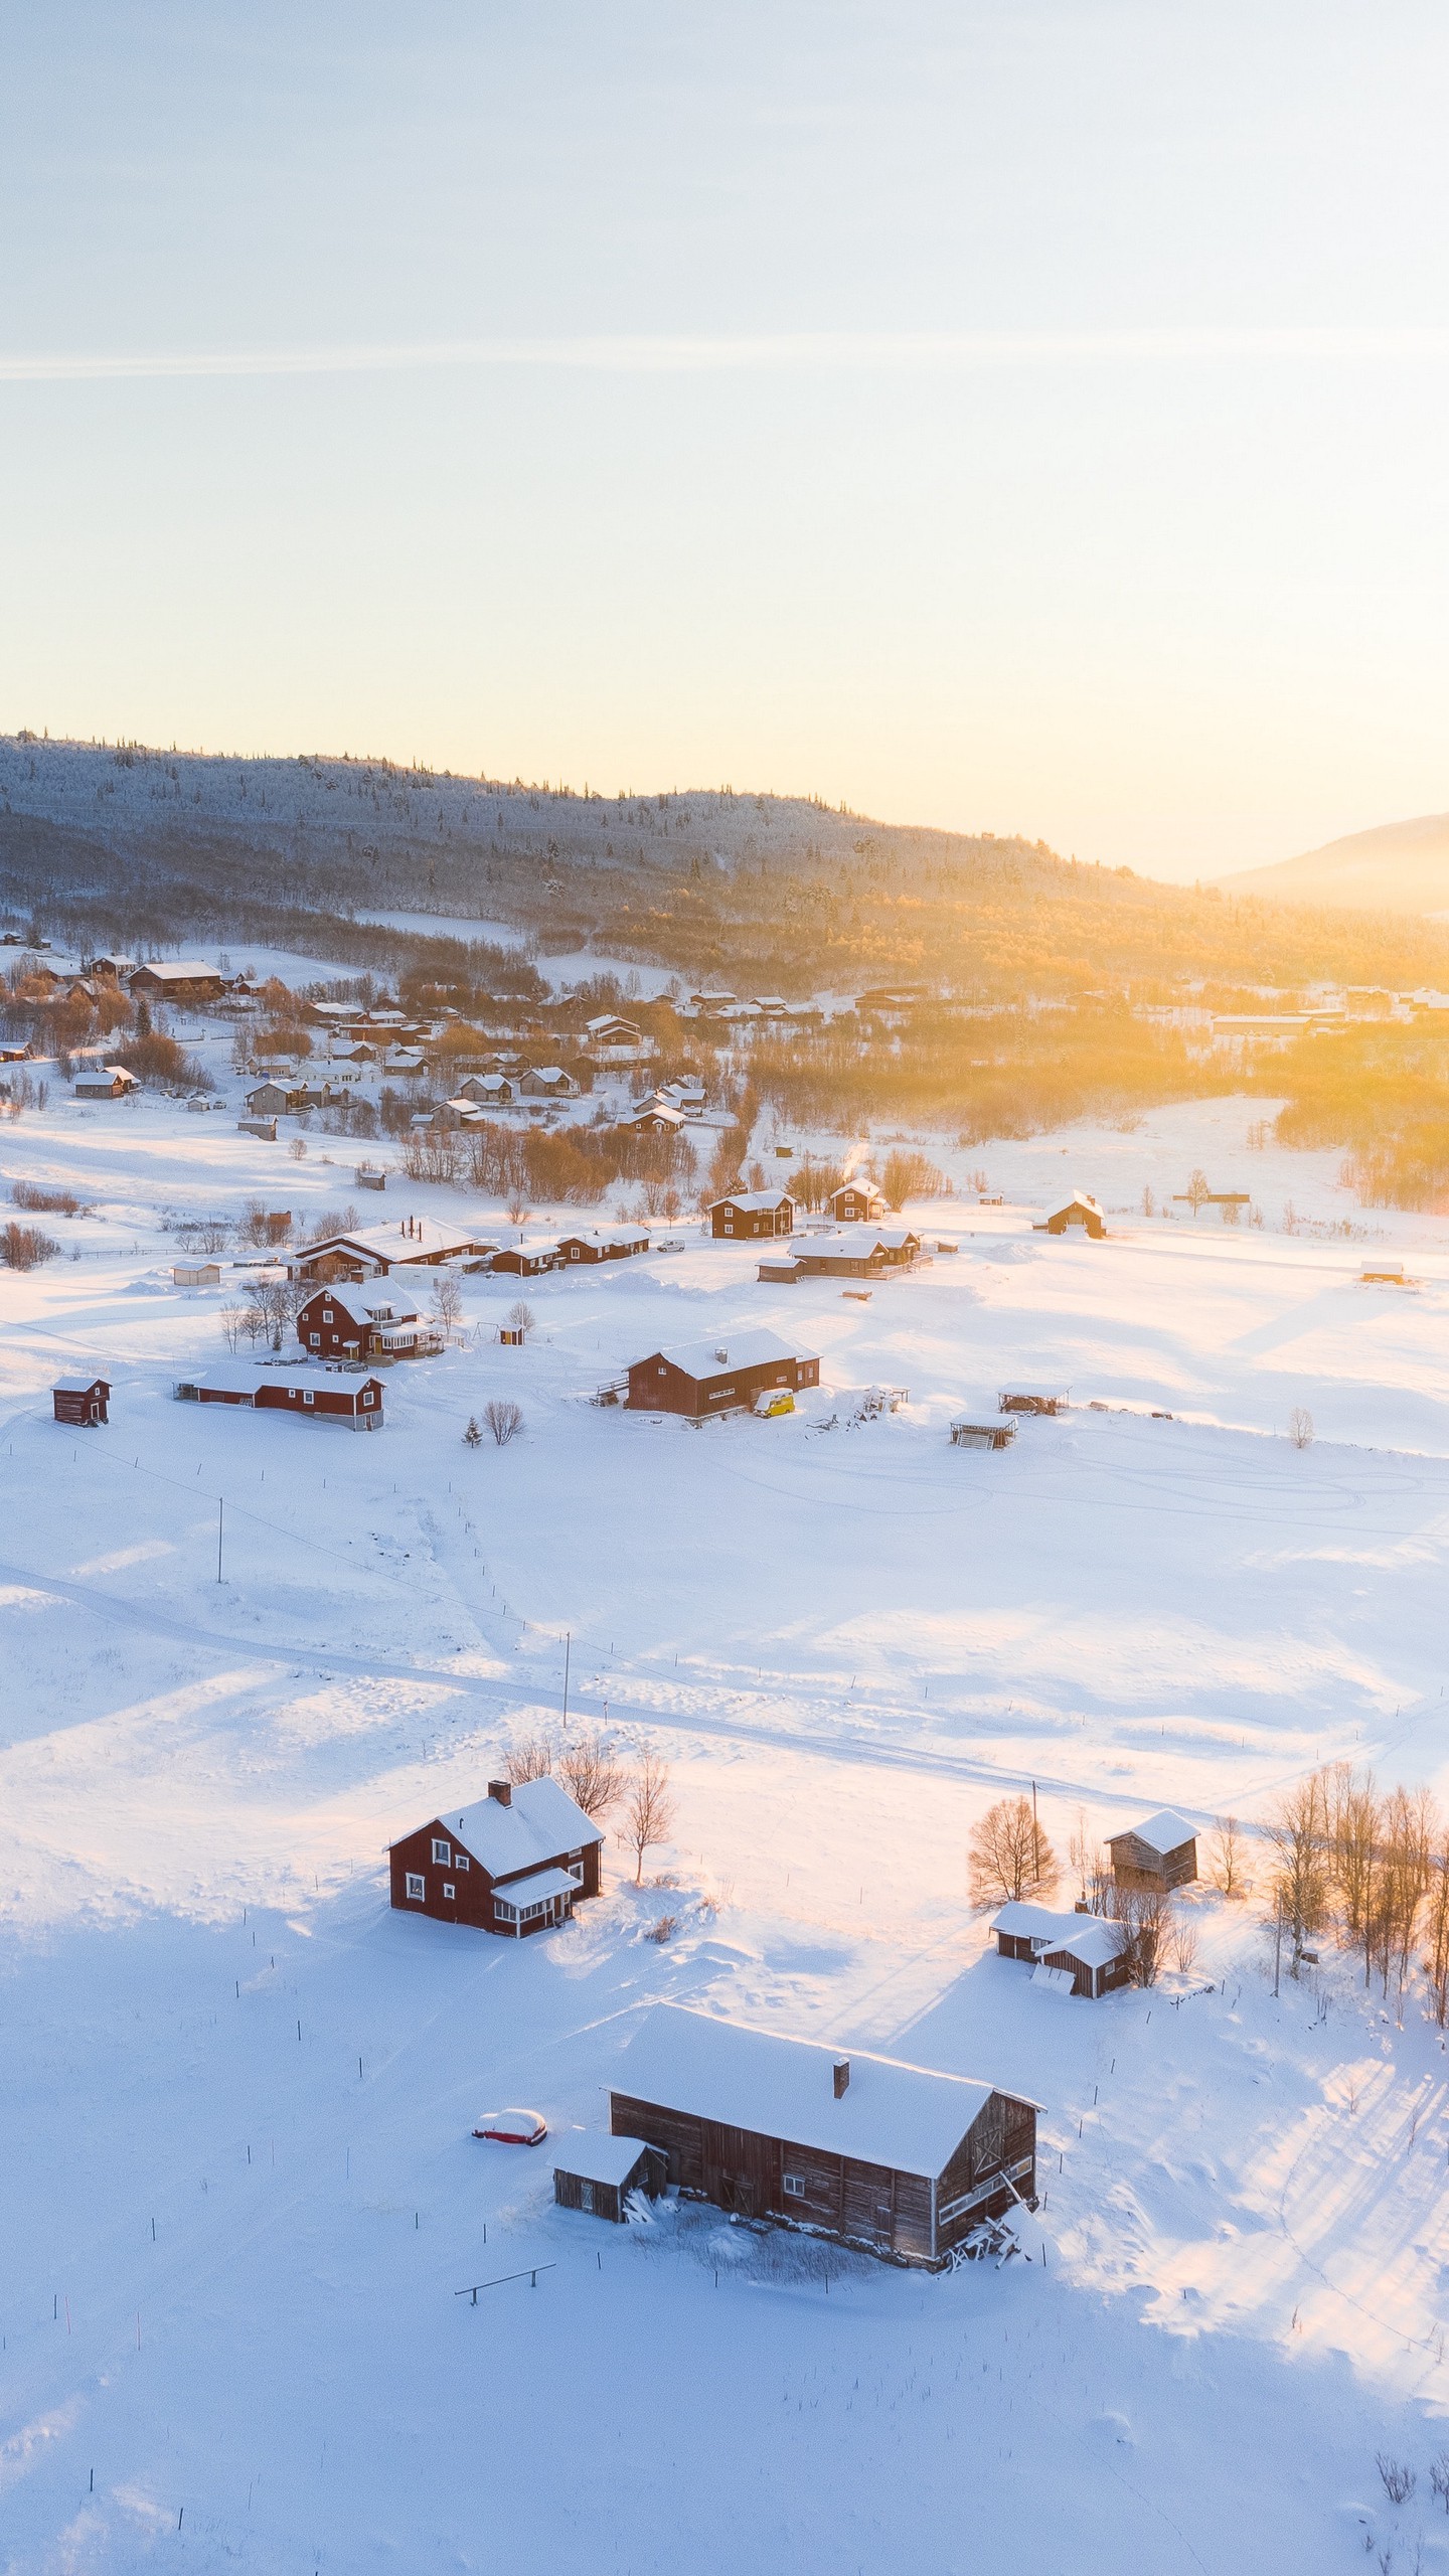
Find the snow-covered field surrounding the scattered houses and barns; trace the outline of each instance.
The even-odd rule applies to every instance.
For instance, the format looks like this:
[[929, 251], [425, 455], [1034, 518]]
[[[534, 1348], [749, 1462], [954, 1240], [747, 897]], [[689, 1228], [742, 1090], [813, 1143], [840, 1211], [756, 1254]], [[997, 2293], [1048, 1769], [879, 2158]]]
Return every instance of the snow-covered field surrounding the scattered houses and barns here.
[[[1204, 1888], [1191, 1976], [1062, 2004], [964, 1899], [1003, 1788], [1062, 1852], [1163, 1801], [1253, 1819], [1318, 1759], [1449, 1793], [1449, 1226], [1248, 1154], [1261, 1110], [982, 1149], [1008, 1203], [920, 1211], [962, 1249], [871, 1303], [691, 1234], [531, 1283], [505, 1350], [518, 1283], [469, 1278], [467, 1347], [392, 1370], [374, 1440], [170, 1396], [224, 1358], [224, 1291], [173, 1288], [160, 1213], [340, 1206], [345, 1146], [155, 1100], [0, 1128], [5, 1180], [95, 1200], [0, 1273], [5, 2571], [1449, 2563], [1418, 1991], [1400, 2027], [1328, 1947], [1274, 2002], [1258, 1909]], [[1127, 1208], [1194, 1164], [1263, 1229], [1031, 1231], [1067, 1182]], [[1372, 1239], [1284, 1234], [1289, 1198]], [[480, 1221], [397, 1177], [358, 1213], [410, 1208]], [[1418, 1285], [1359, 1285], [1390, 1247]], [[745, 1321], [822, 1355], [817, 1404], [696, 1432], [585, 1401]], [[49, 1419], [80, 1365], [108, 1430]], [[1070, 1417], [951, 1450], [1013, 1381]], [[910, 1401], [853, 1422], [871, 1383]], [[490, 1394], [526, 1435], [472, 1453]], [[670, 1886], [611, 1844], [559, 1935], [389, 1914], [384, 1844], [557, 1721], [565, 1633], [572, 1713], [673, 1767]], [[652, 1996], [1034, 2094], [1031, 2262], [614, 2231], [554, 2210], [549, 2146], [469, 2138], [508, 2099], [598, 2123]], [[1397, 2509], [1377, 2450], [1418, 2470]]]

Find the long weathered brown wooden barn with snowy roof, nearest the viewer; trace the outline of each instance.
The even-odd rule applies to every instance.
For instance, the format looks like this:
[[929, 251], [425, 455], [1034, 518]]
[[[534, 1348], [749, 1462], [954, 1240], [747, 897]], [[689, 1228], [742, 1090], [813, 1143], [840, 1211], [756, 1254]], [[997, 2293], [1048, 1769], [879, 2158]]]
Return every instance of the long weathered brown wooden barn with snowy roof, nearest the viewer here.
[[608, 2094], [616, 2138], [740, 2218], [941, 2264], [982, 2218], [1036, 2197], [1036, 2102], [817, 2040], [655, 2004]]

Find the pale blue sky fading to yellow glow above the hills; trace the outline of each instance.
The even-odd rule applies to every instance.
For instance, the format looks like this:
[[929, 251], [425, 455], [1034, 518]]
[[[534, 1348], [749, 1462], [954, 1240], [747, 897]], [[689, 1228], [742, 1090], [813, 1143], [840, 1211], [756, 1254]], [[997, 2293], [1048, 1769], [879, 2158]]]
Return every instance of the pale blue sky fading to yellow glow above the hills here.
[[1449, 806], [1439, 0], [0, 36], [0, 729], [1163, 876]]

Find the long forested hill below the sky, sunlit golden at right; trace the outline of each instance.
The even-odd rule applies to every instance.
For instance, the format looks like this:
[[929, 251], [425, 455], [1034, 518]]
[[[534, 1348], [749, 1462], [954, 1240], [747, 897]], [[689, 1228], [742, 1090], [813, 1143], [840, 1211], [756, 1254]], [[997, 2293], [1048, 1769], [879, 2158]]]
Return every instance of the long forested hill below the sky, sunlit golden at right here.
[[732, 788], [580, 796], [387, 760], [0, 739], [0, 902], [62, 938], [273, 935], [374, 909], [503, 920], [686, 979], [892, 976], [990, 999], [1217, 984], [1449, 987], [1449, 933], [1078, 866], [1044, 842]]

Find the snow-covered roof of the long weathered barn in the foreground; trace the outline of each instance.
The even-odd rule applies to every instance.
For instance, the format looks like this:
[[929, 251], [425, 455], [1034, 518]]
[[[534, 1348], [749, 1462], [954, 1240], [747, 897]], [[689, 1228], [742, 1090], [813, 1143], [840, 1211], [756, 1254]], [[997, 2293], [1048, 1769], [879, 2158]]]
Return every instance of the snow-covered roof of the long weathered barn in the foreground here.
[[[841, 2058], [851, 2081], [835, 2099]], [[995, 2087], [655, 2004], [619, 2061], [614, 2092], [902, 2174], [941, 2174]]]

